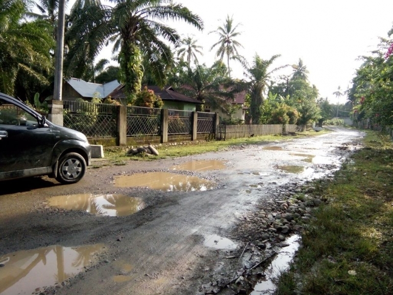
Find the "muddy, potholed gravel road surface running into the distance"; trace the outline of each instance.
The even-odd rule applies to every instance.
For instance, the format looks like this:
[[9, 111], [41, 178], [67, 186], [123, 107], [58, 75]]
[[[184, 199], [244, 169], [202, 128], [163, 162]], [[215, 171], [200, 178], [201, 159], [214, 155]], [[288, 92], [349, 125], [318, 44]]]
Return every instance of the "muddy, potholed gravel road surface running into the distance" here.
[[[312, 195], [308, 181], [328, 178], [362, 147], [362, 137], [361, 132], [335, 128], [313, 138], [244, 144], [153, 162], [129, 161], [125, 166], [88, 169], [78, 184], [68, 186], [47, 177], [5, 181], [0, 190], [0, 256], [50, 245], [105, 244], [105, 252], [95, 255], [91, 265], [64, 282], [45, 282], [38, 291], [31, 285], [34, 292], [45, 295], [251, 293], [285, 250], [285, 239], [302, 231], [297, 221], [310, 218], [309, 207], [324, 201]], [[302, 161], [305, 156], [290, 153], [315, 157], [308, 163]], [[173, 166], [212, 159], [227, 161], [226, 168], [168, 172]], [[305, 171], [275, 168], [287, 165], [303, 166]], [[165, 173], [163, 180], [152, 171]], [[174, 181], [179, 176], [181, 181]], [[198, 185], [192, 185], [193, 180]], [[307, 195], [303, 202], [292, 200], [297, 192]], [[53, 196], [76, 194], [137, 197], [145, 208], [113, 218], [48, 203]], [[298, 219], [284, 218], [289, 207]], [[213, 244], [223, 238], [236, 247], [206, 246], [206, 238], [213, 235], [219, 236]]]

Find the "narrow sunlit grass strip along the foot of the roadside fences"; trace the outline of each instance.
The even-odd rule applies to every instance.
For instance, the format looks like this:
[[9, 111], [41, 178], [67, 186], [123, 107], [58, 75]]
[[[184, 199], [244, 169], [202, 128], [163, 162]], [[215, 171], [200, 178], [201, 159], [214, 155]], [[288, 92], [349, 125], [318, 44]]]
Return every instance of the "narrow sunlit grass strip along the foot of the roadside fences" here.
[[[315, 135], [321, 135], [324, 133], [331, 132], [329, 130], [323, 130], [320, 132], [305, 131], [297, 134], [296, 136], [282, 136], [282, 135], [266, 135], [252, 138], [240, 138], [231, 139], [227, 141], [210, 141], [210, 142], [199, 142], [198, 144], [185, 144], [177, 146], [162, 146], [157, 147], [158, 156], [147, 156], [147, 155], [126, 155], [126, 150], [121, 147], [104, 147], [104, 154], [107, 162], [116, 165], [116, 163], [127, 163], [128, 161], [154, 161], [160, 158], [168, 157], [182, 157], [194, 154], [202, 154], [206, 152], [220, 151], [230, 146], [239, 146], [244, 144], [258, 144], [261, 142], [272, 142], [272, 141], [285, 141], [294, 138], [310, 137]], [[99, 164], [96, 164], [98, 166]], [[117, 164], [119, 165], [119, 164]], [[122, 164], [126, 165], [126, 164]]]

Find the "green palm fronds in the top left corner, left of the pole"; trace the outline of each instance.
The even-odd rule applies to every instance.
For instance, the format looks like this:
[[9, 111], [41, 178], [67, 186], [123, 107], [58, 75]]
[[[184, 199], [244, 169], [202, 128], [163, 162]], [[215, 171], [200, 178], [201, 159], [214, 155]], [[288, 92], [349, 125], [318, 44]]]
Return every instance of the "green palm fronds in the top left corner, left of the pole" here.
[[13, 95], [18, 75], [48, 85], [42, 74], [52, 70], [55, 42], [46, 21], [22, 21], [28, 10], [22, 0], [0, 2], [0, 92]]

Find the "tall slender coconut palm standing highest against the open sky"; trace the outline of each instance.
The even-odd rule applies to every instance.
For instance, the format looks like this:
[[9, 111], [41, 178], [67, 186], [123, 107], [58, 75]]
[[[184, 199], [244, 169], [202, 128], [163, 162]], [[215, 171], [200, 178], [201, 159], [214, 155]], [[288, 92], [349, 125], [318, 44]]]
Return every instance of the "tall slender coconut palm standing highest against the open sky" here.
[[233, 26], [233, 16], [229, 18], [229, 15], [227, 15], [227, 19], [225, 20], [222, 27], [218, 27], [217, 30], [209, 32], [209, 34], [215, 33], [219, 36], [219, 41], [213, 44], [213, 46], [210, 48], [210, 51], [218, 46], [216, 57], [219, 57], [220, 60], [223, 60], [224, 55], [227, 55], [229, 78], [231, 78], [231, 68], [229, 67], [229, 59], [236, 58], [237, 56], [239, 56], [239, 53], [237, 52], [237, 48], [243, 47], [238, 41], [234, 39], [235, 37], [241, 34], [241, 32], [236, 32], [236, 29], [239, 26], [240, 24]]

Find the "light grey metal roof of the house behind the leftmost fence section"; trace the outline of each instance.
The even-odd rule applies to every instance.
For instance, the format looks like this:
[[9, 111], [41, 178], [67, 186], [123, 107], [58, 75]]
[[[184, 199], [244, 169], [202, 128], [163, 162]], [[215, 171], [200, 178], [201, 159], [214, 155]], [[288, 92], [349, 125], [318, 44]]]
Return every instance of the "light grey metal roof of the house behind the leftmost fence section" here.
[[106, 98], [117, 86], [120, 85], [117, 80], [108, 82], [104, 85], [86, 82], [77, 78], [71, 78], [67, 82], [82, 97], [93, 97], [94, 93], [98, 92], [100, 94], [100, 98]]

